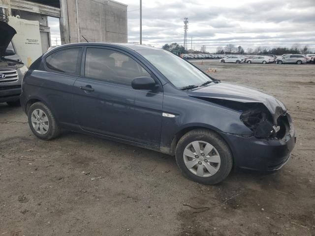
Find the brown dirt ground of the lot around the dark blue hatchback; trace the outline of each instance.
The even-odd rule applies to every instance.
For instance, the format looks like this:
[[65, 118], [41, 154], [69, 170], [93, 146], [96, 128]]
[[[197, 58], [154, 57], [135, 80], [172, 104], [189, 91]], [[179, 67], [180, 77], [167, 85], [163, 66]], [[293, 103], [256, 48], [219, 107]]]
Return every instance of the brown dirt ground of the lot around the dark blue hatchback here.
[[41, 141], [0, 104], [0, 236], [315, 236], [315, 64], [194, 63], [285, 103], [298, 139], [282, 170], [206, 186], [155, 151], [71, 132]]

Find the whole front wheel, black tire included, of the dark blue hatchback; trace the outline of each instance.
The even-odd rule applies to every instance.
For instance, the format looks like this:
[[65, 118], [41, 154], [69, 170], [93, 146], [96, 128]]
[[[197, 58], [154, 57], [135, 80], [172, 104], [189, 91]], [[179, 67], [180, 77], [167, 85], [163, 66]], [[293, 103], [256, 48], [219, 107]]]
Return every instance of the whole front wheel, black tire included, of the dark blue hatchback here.
[[[207, 145], [210, 144], [210, 147], [212, 148], [208, 148], [210, 150], [209, 153], [214, 156], [210, 157], [209, 155], [203, 155], [202, 157], [202, 153], [206, 149], [204, 148], [200, 151], [201, 155], [198, 158], [196, 158], [196, 156], [190, 157], [198, 153], [195, 149], [191, 149], [192, 142], [197, 142], [199, 144], [207, 143]], [[199, 147], [202, 147], [202, 145], [199, 145]], [[187, 153], [190, 156], [186, 155]], [[218, 162], [218, 155], [220, 163], [213, 163], [211, 160]], [[176, 146], [175, 157], [177, 165], [185, 177], [203, 184], [217, 184], [221, 182], [228, 176], [233, 166], [233, 157], [228, 145], [219, 134], [207, 129], [195, 129], [185, 134]], [[190, 163], [189, 161], [193, 162]], [[196, 161], [198, 162], [193, 165]], [[187, 165], [193, 166], [189, 169]], [[208, 167], [206, 167], [206, 165], [208, 165]], [[208, 171], [209, 165], [212, 167], [210, 170], [213, 174]], [[202, 169], [203, 177], [201, 177], [202, 175], [198, 176], [199, 168]]]

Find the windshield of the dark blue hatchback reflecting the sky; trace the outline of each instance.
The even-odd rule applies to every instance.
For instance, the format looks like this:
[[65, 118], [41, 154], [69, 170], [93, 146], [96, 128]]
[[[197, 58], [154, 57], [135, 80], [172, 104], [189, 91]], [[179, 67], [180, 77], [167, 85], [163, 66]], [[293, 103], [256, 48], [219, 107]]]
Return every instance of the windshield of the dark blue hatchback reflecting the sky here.
[[164, 50], [138, 50], [145, 59], [153, 64], [177, 88], [189, 85], [200, 86], [210, 77], [184, 59]]

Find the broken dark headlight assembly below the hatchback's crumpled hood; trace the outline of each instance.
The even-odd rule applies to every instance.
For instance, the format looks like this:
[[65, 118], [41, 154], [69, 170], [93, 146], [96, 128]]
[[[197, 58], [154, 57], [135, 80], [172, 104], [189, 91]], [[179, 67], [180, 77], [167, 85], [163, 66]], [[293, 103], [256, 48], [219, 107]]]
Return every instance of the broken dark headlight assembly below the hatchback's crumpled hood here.
[[272, 123], [269, 111], [262, 104], [257, 104], [245, 110], [240, 119], [252, 130], [256, 138], [276, 138], [281, 128]]

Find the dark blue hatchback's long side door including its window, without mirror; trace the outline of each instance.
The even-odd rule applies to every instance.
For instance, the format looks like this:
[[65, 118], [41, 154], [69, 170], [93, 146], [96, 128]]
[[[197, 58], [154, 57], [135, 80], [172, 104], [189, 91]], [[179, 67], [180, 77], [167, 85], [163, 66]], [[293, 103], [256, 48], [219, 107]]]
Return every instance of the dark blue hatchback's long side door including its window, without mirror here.
[[120, 50], [87, 47], [84, 54], [81, 77], [73, 88], [80, 128], [159, 147], [163, 92], [131, 87], [134, 78], [154, 75]]

